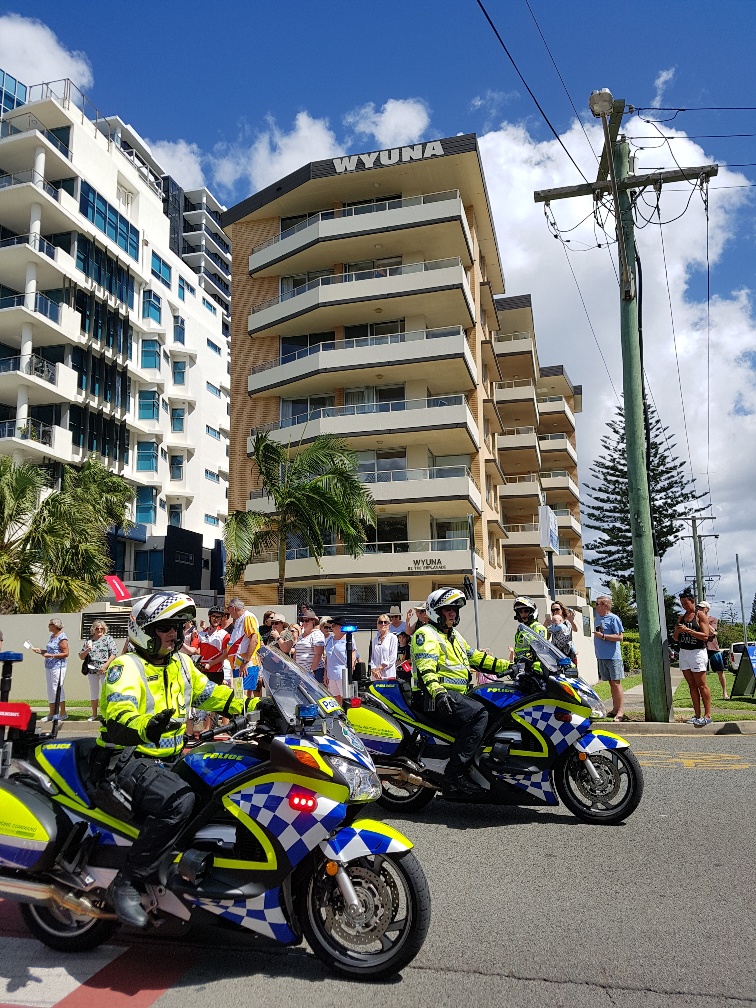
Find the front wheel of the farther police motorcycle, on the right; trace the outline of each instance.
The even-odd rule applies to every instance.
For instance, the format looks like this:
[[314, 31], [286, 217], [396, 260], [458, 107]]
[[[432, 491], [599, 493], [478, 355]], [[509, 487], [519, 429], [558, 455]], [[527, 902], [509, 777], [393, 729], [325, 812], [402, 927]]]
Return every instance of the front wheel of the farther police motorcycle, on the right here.
[[643, 796], [643, 771], [629, 749], [605, 749], [587, 760], [570, 748], [554, 767], [556, 793], [584, 823], [614, 826], [638, 807]]

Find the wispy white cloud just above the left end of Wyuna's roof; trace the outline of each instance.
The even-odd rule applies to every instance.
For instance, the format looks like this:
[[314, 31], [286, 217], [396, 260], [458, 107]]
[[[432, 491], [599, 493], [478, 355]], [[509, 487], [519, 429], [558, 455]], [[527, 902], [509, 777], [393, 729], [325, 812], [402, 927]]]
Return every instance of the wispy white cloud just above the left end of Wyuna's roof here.
[[299, 112], [292, 128], [286, 132], [269, 116], [267, 129], [252, 143], [238, 141], [216, 147], [211, 156], [213, 177], [227, 191], [246, 181], [253, 192], [257, 192], [308, 161], [340, 153], [342, 147], [328, 119], [316, 119], [308, 112]]

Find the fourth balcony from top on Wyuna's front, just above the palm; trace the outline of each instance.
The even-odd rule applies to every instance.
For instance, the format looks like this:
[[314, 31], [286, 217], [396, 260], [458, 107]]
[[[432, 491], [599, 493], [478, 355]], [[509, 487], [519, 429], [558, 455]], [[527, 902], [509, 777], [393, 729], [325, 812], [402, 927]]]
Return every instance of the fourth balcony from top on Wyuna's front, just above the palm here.
[[252, 451], [254, 434], [263, 430], [269, 430], [273, 440], [292, 446], [332, 433], [349, 437], [350, 448], [355, 451], [375, 448], [376, 434], [389, 448], [406, 444], [406, 435], [416, 431], [422, 431], [425, 444], [436, 455], [463, 454], [471, 451], [471, 445], [475, 451], [480, 447], [478, 426], [464, 395], [313, 409], [253, 429], [247, 454]]

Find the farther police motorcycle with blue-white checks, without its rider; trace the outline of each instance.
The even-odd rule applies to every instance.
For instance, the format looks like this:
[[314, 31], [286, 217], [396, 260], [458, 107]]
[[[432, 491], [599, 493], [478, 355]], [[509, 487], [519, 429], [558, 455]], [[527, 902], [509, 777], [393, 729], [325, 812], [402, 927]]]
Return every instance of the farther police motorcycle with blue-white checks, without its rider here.
[[[469, 776], [474, 795], [448, 788], [444, 768], [453, 736], [432, 716], [410, 706], [398, 679], [372, 682], [363, 704], [348, 711], [355, 732], [381, 777], [378, 803], [392, 812], [423, 808], [440, 791], [453, 801], [501, 805], [556, 805], [559, 799], [586, 823], [621, 823], [643, 794], [643, 771], [629, 743], [603, 728], [601, 699], [565, 657], [525, 624], [528, 657], [470, 696], [488, 711], [488, 727]], [[506, 679], [506, 680], [505, 680]]]

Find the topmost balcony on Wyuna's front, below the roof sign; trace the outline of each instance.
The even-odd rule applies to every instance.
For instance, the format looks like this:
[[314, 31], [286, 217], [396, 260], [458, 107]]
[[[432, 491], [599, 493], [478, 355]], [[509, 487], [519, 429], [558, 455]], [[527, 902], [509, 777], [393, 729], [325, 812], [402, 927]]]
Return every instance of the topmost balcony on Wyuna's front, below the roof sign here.
[[[432, 230], [431, 230], [432, 229]], [[360, 207], [344, 207], [312, 214], [293, 228], [252, 249], [251, 274], [303, 273], [323, 266], [328, 242], [339, 242], [341, 261], [359, 262], [375, 257], [377, 236], [390, 233], [393, 255], [406, 255], [418, 248], [432, 248], [439, 258], [462, 256], [466, 266], [473, 261], [473, 240], [457, 190], [385, 200]], [[380, 239], [378, 239], [380, 240]], [[276, 267], [276, 268], [274, 268]]]

